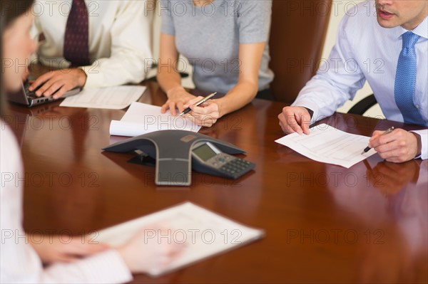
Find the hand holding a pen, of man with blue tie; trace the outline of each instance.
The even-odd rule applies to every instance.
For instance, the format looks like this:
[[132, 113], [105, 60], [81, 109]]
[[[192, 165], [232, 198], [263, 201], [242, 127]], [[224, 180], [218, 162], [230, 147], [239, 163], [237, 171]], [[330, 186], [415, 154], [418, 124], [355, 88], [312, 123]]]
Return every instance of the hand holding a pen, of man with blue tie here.
[[407, 162], [420, 154], [417, 134], [402, 129], [396, 129], [387, 135], [382, 134], [383, 131], [373, 132], [369, 147], [374, 148], [379, 156], [388, 162]]

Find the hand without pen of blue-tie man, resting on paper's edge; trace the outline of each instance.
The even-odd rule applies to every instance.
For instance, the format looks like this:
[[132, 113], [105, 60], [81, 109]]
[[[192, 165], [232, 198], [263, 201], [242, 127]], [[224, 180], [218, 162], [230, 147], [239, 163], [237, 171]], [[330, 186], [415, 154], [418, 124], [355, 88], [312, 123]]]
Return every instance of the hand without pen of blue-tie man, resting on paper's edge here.
[[282, 131], [287, 134], [309, 134], [310, 114], [305, 107], [284, 107], [278, 119]]

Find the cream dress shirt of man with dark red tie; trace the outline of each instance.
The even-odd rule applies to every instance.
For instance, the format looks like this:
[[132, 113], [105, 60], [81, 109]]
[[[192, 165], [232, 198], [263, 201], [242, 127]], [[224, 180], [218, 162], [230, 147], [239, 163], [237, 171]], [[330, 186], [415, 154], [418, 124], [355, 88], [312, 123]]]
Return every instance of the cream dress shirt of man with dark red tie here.
[[[148, 0], [85, 1], [89, 21], [90, 66], [85, 88], [139, 83], [151, 62], [153, 6]], [[36, 1], [34, 27], [39, 61], [55, 69], [68, 68], [63, 58], [64, 34], [71, 0]], [[31, 58], [34, 60], [34, 57]]]

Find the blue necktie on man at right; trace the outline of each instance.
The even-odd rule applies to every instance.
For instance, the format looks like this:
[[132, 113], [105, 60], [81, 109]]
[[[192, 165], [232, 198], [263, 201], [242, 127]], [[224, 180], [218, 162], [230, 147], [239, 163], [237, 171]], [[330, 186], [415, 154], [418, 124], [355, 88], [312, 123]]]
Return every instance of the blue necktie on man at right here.
[[419, 106], [415, 106], [413, 101], [417, 69], [414, 45], [419, 36], [407, 31], [403, 33], [402, 39], [403, 48], [399, 53], [397, 74], [395, 75], [395, 102], [404, 117], [404, 122], [412, 125], [425, 125], [419, 112]]

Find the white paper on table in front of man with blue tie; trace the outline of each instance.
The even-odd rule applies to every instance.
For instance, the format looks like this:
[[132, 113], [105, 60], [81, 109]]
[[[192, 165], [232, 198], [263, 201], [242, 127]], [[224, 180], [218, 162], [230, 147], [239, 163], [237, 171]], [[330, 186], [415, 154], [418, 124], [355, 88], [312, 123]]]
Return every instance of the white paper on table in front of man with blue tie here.
[[350, 134], [322, 124], [312, 127], [310, 135], [298, 135], [295, 132], [275, 142], [315, 161], [350, 168], [376, 153], [374, 149], [370, 149], [369, 152], [361, 154], [369, 140], [370, 137]]

